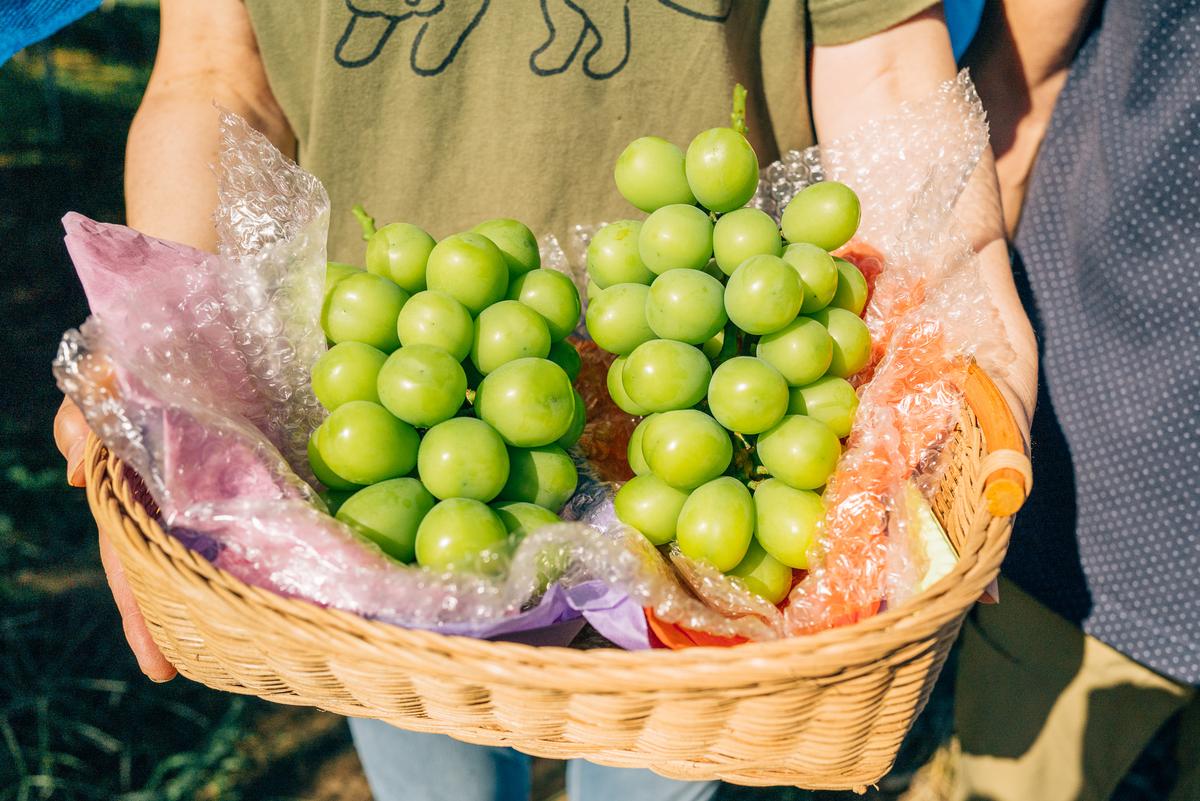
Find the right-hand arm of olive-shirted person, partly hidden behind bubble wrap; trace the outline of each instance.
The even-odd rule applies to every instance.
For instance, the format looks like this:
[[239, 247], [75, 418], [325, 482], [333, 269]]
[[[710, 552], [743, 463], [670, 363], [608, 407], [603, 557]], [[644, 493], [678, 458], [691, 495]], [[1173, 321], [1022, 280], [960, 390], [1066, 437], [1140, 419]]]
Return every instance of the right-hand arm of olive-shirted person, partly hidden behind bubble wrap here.
[[[836, 139], [866, 116], [883, 116], [906, 101], [925, 98], [956, 71], [940, 8], [860, 42], [815, 48], [812, 116], [817, 139]], [[979, 253], [984, 282], [1015, 354], [1015, 360], [992, 378], [1027, 435], [1037, 399], [1037, 343], [1013, 283], [990, 150], [955, 211]]]

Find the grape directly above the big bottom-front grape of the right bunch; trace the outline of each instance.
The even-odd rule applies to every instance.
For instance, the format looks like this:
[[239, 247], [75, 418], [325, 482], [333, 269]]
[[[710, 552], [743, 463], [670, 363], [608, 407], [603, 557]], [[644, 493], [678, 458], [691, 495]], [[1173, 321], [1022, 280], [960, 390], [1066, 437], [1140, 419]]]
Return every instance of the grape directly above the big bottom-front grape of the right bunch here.
[[650, 471], [672, 487], [692, 489], [725, 472], [733, 444], [720, 423], [695, 409], [656, 415], [642, 435]]

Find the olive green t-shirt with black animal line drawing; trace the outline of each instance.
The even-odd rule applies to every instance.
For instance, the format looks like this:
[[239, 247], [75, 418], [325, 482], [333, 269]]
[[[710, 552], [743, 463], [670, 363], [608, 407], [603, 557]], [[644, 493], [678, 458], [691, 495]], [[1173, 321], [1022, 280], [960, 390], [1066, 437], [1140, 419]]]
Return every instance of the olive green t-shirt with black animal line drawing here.
[[761, 164], [805, 147], [810, 32], [854, 41], [934, 0], [245, 2], [300, 164], [329, 191], [330, 258], [361, 263], [355, 203], [436, 237], [640, 217], [617, 156], [728, 125], [737, 82]]

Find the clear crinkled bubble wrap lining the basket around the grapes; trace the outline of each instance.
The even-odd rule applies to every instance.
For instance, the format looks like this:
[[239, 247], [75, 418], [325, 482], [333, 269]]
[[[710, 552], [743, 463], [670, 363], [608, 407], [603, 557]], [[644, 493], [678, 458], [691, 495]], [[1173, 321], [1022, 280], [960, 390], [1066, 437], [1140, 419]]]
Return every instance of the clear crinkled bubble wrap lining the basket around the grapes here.
[[[94, 315], [67, 332], [55, 360], [60, 386], [145, 481], [167, 529], [218, 567], [366, 618], [474, 637], [565, 643], [582, 616], [624, 648], [649, 645], [642, 607], [670, 624], [760, 640], [857, 620], [914, 586], [902, 487], [913, 477], [926, 493], [935, 486], [967, 361], [1006, 357], [953, 213], [986, 145], [965, 76], [823, 150], [788, 153], [755, 199], [778, 217], [803, 186], [845, 181], [863, 200], [857, 241], [886, 265], [866, 313], [875, 362], [826, 490], [827, 525], [784, 609], [622, 526], [612, 486], [586, 464], [564, 510], [570, 523], [533, 532], [475, 572], [398, 565], [325, 514], [301, 477], [312, 478], [305, 446], [324, 416], [308, 371], [325, 348], [328, 198], [232, 114], [222, 114], [222, 141], [220, 255], [67, 216]], [[542, 241], [546, 266], [571, 275], [584, 296], [582, 254], [595, 229], [576, 227], [565, 247]], [[605, 397], [588, 401], [601, 408], [589, 427], [622, 414], [605, 410]], [[547, 571], [557, 577], [548, 589]]]

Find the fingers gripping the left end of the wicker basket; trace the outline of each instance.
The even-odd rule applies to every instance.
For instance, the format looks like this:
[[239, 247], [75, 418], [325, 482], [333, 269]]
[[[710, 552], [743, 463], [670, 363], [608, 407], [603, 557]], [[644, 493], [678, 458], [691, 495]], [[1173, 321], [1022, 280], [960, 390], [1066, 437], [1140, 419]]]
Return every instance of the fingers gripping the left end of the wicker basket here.
[[[54, 415], [54, 444], [67, 460], [67, 483], [72, 487], [83, 487], [86, 483], [83, 457], [88, 433], [88, 421], [84, 420], [79, 406], [72, 403], [71, 398], [62, 398], [62, 405]], [[133, 598], [133, 590], [125, 578], [121, 560], [103, 531], [100, 532], [100, 561], [104, 566], [104, 576], [116, 602], [116, 609], [121, 613], [125, 639], [138, 661], [138, 667], [151, 681], [169, 681], [175, 676], [175, 668], [150, 637], [142, 610]]]

